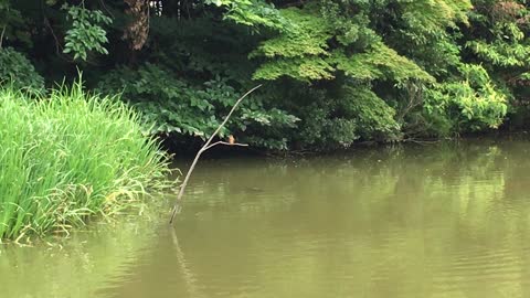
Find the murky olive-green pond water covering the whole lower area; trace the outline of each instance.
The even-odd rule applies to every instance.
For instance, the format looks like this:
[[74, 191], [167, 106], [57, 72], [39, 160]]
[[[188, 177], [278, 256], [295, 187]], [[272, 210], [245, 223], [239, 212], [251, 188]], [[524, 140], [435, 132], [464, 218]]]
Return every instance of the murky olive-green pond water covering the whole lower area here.
[[529, 149], [204, 161], [174, 228], [3, 248], [0, 297], [530, 297]]

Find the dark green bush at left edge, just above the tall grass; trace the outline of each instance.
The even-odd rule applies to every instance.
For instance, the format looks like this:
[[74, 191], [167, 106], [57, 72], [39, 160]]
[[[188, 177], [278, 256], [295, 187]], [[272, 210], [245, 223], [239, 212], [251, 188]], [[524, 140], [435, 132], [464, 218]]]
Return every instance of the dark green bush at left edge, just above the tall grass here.
[[29, 93], [44, 92], [44, 78], [31, 61], [11, 47], [0, 47], [0, 86], [9, 85]]

